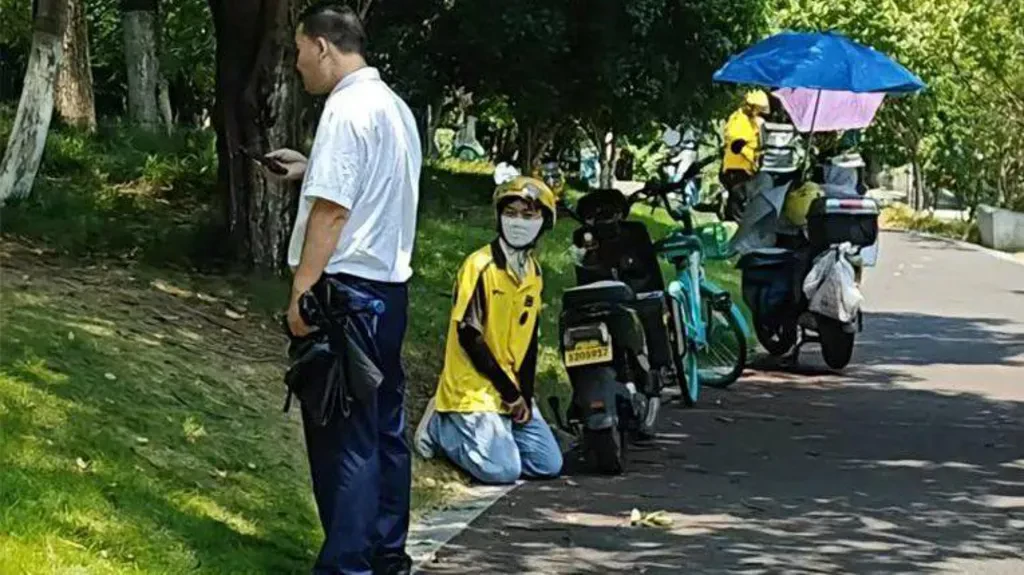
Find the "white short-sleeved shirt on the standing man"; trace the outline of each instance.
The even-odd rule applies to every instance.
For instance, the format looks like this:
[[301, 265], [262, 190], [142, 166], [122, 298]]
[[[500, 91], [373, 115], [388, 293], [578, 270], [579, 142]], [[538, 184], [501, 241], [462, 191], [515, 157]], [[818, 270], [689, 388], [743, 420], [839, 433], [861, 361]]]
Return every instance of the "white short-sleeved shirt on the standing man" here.
[[376, 69], [349, 74], [327, 99], [288, 247], [294, 270], [317, 198], [349, 210], [327, 273], [403, 282], [413, 275], [423, 156], [409, 106]]

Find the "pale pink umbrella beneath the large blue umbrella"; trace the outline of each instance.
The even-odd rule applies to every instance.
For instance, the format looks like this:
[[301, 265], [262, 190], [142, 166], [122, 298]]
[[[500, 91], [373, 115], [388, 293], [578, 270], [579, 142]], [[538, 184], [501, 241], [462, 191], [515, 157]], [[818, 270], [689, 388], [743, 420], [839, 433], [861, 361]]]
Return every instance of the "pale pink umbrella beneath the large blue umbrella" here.
[[810, 88], [780, 88], [775, 97], [800, 132], [839, 132], [870, 126], [885, 94]]

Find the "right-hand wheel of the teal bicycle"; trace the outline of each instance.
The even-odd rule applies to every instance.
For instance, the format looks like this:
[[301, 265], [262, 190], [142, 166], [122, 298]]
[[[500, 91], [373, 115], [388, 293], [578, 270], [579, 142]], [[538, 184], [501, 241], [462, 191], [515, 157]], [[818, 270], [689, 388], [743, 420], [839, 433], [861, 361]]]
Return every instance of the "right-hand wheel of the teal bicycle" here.
[[727, 311], [717, 309], [707, 299], [700, 304], [708, 336], [708, 345], [696, 354], [700, 384], [727, 388], [739, 379], [746, 367], [743, 319], [735, 304]]

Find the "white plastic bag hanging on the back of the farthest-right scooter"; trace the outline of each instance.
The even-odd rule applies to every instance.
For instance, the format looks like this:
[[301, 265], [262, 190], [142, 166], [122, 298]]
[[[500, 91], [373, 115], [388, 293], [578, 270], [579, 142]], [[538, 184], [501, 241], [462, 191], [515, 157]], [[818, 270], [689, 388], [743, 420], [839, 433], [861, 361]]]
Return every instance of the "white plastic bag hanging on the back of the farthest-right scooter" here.
[[857, 317], [864, 296], [857, 288], [853, 265], [847, 259], [853, 248], [843, 244], [821, 254], [804, 279], [808, 309], [848, 323]]

